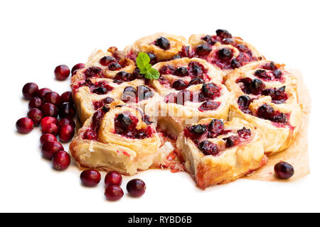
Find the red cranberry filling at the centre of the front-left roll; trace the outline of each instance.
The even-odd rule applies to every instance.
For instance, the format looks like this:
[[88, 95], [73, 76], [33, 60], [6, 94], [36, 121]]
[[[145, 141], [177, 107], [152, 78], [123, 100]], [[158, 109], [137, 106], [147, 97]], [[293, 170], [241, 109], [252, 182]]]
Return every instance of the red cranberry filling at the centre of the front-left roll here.
[[137, 116], [133, 116], [129, 112], [118, 114], [114, 118], [114, 130], [116, 134], [123, 135], [127, 138], [144, 139], [151, 137], [153, 131], [151, 126], [146, 129], [137, 129]]

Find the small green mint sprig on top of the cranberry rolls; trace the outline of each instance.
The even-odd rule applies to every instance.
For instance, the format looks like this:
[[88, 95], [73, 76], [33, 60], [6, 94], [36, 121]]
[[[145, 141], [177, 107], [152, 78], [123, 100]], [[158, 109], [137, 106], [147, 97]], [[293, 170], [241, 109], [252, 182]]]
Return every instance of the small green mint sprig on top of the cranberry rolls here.
[[136, 62], [140, 73], [144, 74], [144, 77], [146, 79], [159, 79], [159, 71], [151, 67], [151, 65], [149, 64], [150, 57], [145, 52], [139, 52]]

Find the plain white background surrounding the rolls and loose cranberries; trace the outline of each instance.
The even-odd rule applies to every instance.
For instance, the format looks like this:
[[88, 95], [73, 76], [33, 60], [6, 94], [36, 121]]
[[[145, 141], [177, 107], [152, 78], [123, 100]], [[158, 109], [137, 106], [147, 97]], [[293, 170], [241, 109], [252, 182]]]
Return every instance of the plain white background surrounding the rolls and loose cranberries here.
[[[306, 0], [1, 1], [0, 211], [320, 211], [319, 9], [319, 1]], [[146, 182], [142, 198], [125, 194], [110, 202], [102, 182], [93, 189], [80, 185], [74, 165], [64, 172], [51, 169], [41, 157], [38, 128], [28, 135], [16, 133], [16, 120], [28, 109], [23, 84], [69, 90], [68, 81], [55, 81], [55, 66], [72, 67], [85, 62], [95, 48], [121, 49], [151, 33], [188, 37], [217, 28], [241, 36], [269, 60], [302, 70], [313, 101], [311, 174], [304, 179], [239, 179], [203, 192], [186, 173], [149, 170], [135, 176]], [[124, 177], [124, 187], [129, 179]]]

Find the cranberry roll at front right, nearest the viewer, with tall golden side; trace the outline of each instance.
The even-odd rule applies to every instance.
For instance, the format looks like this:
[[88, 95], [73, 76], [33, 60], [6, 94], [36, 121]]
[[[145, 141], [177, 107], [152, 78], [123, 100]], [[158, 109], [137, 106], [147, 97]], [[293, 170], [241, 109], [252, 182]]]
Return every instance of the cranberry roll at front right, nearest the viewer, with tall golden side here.
[[177, 148], [201, 189], [234, 181], [267, 162], [260, 131], [240, 118], [206, 118], [188, 126]]

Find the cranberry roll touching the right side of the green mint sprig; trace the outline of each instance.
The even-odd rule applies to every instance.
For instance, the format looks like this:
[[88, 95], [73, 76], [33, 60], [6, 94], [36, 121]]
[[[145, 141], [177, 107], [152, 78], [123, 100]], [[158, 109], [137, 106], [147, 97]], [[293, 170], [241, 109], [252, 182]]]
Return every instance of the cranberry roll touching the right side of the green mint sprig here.
[[162, 96], [196, 84], [223, 82], [223, 72], [218, 67], [196, 57], [159, 62], [153, 67], [160, 72], [160, 77], [151, 79], [150, 84]]

